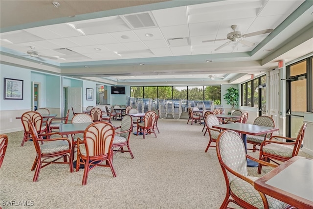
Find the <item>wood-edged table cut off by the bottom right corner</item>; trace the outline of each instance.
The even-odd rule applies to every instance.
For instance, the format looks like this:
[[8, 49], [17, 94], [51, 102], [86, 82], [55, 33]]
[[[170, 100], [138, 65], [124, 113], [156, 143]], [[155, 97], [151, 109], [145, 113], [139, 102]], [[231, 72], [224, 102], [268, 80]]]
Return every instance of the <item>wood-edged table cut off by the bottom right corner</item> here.
[[313, 209], [313, 159], [294, 156], [257, 179], [254, 188], [297, 209]]

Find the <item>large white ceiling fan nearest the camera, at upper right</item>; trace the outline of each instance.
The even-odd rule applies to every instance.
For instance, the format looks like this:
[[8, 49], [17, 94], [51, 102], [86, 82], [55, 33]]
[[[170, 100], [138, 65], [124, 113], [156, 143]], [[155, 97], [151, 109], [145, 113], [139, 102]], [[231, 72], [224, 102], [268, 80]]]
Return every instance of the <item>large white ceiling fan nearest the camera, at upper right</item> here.
[[254, 46], [255, 44], [252, 42], [246, 41], [245, 40], [246, 37], [257, 36], [257, 35], [261, 35], [261, 34], [270, 33], [273, 31], [273, 29], [266, 29], [266, 30], [260, 30], [260, 31], [252, 32], [252, 33], [242, 34], [240, 31], [236, 31], [236, 28], [237, 28], [236, 24], [233, 24], [230, 27], [231, 27], [231, 29], [233, 29], [233, 32], [228, 33], [226, 39], [206, 40], [206, 41], [202, 41], [202, 43], [230, 40], [229, 42], [224, 43], [222, 46], [219, 46], [216, 49], [214, 49], [214, 51], [217, 51], [217, 50], [223, 48], [224, 46], [229, 45], [230, 43], [240, 43], [240, 44], [243, 44], [245, 46], [251, 47], [251, 46]]

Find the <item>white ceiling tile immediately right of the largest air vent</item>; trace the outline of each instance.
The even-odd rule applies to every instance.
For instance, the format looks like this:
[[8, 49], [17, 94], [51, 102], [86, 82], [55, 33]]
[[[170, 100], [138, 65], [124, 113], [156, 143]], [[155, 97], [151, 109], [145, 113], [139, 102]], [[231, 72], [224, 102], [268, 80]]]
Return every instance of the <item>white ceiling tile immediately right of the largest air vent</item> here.
[[[159, 27], [187, 24], [187, 8], [180, 6], [176, 8], [159, 9], [152, 11]], [[179, 18], [176, 18], [179, 17]]]

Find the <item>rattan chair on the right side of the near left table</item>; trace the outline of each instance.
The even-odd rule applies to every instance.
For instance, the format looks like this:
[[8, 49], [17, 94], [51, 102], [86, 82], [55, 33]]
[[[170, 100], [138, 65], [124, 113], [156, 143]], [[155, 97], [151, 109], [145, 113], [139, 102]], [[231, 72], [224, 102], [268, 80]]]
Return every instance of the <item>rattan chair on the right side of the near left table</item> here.
[[[118, 132], [115, 132], [112, 150], [113, 155], [117, 152], [129, 152], [131, 157], [134, 158], [134, 155], [129, 146], [129, 139], [131, 138], [132, 130], [133, 130], [133, 118], [130, 115], [125, 115], [121, 121], [121, 126], [116, 129], [120, 129]], [[127, 147], [127, 150], [124, 149]], [[117, 148], [117, 149], [114, 149]]]

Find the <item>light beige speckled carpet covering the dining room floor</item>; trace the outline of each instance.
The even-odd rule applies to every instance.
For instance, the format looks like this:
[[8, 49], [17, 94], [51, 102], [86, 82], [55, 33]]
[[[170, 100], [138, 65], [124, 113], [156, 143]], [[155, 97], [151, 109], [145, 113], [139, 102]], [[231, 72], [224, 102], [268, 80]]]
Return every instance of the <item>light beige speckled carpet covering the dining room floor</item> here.
[[[129, 153], [117, 153], [113, 157], [117, 177], [112, 177], [110, 168], [96, 167], [89, 172], [87, 186], [82, 186], [82, 169], [70, 173], [68, 165], [63, 164], [46, 166], [38, 182], [32, 182], [34, 145], [27, 141], [20, 147], [22, 132], [8, 133], [8, 149], [0, 169], [0, 206], [2, 209], [218, 209], [226, 189], [216, 150], [212, 147], [204, 152], [208, 134], [203, 137], [203, 125], [186, 123], [184, 119], [159, 119], [157, 138], [132, 135], [134, 159]], [[250, 175], [257, 176], [257, 168], [248, 169]], [[269, 169], [265, 167], [262, 175]], [[8, 206], [5, 201], [16, 204], [28, 201], [33, 206]]]

